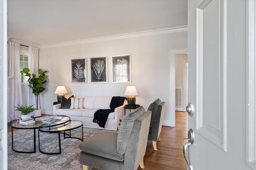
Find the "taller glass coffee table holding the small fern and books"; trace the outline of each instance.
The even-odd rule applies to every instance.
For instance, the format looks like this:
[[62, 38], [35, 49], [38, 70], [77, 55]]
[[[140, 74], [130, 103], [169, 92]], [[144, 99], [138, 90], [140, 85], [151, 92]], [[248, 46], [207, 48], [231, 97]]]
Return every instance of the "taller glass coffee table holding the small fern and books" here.
[[[54, 123], [43, 123], [42, 121], [36, 121], [32, 125], [20, 125], [20, 122], [18, 122], [18, 121], [12, 123], [11, 124], [11, 127], [12, 127], [12, 150], [14, 152], [19, 152], [19, 153], [36, 153], [36, 129], [46, 128], [46, 127], [54, 127], [54, 126], [62, 125], [64, 123], [67, 123], [70, 121], [69, 116], [52, 115], [51, 117], [54, 117], [54, 118], [61, 117], [61, 121], [56, 121]], [[37, 117], [34, 117], [33, 119], [35, 120], [35, 118], [37, 118]], [[20, 150], [14, 149], [13, 129], [33, 129], [34, 130], [34, 150], [33, 151], [20, 151]]]

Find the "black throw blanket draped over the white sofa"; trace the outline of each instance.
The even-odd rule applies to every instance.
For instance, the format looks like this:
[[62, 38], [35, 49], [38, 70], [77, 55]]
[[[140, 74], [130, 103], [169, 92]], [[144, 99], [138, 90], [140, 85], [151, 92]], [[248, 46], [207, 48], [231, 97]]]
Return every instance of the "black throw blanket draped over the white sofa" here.
[[124, 104], [125, 97], [113, 96], [110, 102], [110, 109], [98, 109], [94, 113], [94, 123], [98, 123], [100, 127], [105, 128], [106, 121], [108, 119], [109, 113], [114, 112], [116, 107], [122, 106]]

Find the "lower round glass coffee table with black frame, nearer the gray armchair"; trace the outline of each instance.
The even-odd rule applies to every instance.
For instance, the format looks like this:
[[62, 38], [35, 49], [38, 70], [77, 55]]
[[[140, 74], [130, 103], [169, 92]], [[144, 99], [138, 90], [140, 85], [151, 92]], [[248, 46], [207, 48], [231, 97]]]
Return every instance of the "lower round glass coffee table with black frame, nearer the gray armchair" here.
[[[71, 130], [77, 129], [79, 127], [82, 127], [82, 138], [71, 137]], [[69, 134], [66, 134], [66, 131], [69, 131]], [[40, 132], [58, 133], [58, 137], [59, 137], [59, 151], [58, 152], [44, 152], [40, 149]], [[77, 121], [77, 120], [70, 120], [70, 121], [68, 121], [64, 124], [61, 124], [61, 125], [56, 125], [56, 126], [52, 126], [52, 127], [43, 127], [43, 128], [38, 129], [38, 147], [39, 147], [39, 151], [43, 154], [61, 154], [60, 133], [64, 134], [64, 139], [66, 139], [66, 138], [76, 138], [76, 139], [79, 139], [83, 142], [84, 141], [83, 122], [82, 121]], [[68, 135], [68, 137], [66, 137], [66, 135]]]

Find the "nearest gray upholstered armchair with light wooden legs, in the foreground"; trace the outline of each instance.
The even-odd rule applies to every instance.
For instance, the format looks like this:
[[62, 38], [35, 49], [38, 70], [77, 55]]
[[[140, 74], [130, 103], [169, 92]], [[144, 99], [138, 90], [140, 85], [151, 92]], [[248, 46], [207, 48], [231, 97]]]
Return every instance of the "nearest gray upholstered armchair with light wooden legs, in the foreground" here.
[[101, 170], [144, 168], [151, 111], [143, 107], [123, 117], [118, 133], [103, 131], [80, 145], [80, 164]]

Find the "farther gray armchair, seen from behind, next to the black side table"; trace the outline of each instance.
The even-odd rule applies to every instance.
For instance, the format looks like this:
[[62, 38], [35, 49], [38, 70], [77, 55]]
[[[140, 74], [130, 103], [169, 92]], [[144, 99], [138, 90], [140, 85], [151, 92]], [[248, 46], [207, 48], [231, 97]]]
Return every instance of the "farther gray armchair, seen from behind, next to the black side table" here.
[[148, 140], [152, 141], [154, 150], [157, 150], [156, 141], [161, 141], [160, 133], [164, 117], [164, 107], [165, 102], [162, 102], [160, 99], [155, 100], [148, 106], [148, 110], [152, 111]]

